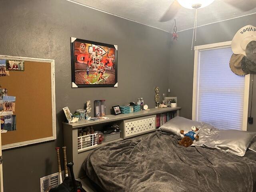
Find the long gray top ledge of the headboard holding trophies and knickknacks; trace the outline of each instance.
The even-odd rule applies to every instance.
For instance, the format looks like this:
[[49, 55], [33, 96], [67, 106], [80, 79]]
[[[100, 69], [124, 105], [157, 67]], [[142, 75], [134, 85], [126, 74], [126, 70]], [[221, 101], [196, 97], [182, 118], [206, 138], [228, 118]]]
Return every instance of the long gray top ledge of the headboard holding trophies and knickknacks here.
[[137, 117], [149, 116], [149, 115], [153, 115], [153, 114], [176, 111], [176, 110], [180, 110], [180, 109], [181, 109], [181, 107], [152, 108], [148, 111], [142, 110], [140, 112], [134, 112], [134, 113], [129, 113], [129, 114], [106, 115], [106, 117], [108, 117], [109, 119], [104, 119], [104, 120], [96, 120], [96, 121], [82, 120], [82, 121], [78, 121], [76, 123], [63, 122], [63, 124], [67, 125], [69, 128], [77, 129], [77, 128], [86, 127], [86, 126], [93, 126], [96, 124], [102, 124], [102, 123], [108, 123], [108, 122], [113, 122], [113, 121], [118, 121], [118, 120], [126, 120], [126, 119], [132, 119], [132, 118], [137, 118]]

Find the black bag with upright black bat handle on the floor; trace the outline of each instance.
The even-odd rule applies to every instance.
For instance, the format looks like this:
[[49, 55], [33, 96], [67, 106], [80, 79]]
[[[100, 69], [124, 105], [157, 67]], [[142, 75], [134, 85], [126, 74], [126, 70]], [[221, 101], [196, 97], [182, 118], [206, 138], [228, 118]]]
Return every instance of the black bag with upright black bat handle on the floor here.
[[72, 167], [73, 165], [73, 162], [67, 164], [67, 166], [70, 168], [71, 177], [66, 177], [62, 184], [50, 189], [49, 192], [86, 192], [86, 190], [82, 188], [81, 182], [75, 180]]

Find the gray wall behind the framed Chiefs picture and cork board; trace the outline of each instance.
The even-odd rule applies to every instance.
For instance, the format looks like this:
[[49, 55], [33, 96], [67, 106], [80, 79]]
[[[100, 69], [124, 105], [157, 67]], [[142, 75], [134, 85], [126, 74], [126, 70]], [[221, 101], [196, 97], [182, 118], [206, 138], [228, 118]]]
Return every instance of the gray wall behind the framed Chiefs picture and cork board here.
[[[5, 192], [39, 192], [39, 178], [57, 172], [63, 145], [62, 108], [106, 99], [106, 113], [143, 97], [154, 107], [154, 88], [167, 92], [170, 34], [66, 0], [0, 0], [0, 54], [55, 60], [57, 139], [5, 150]], [[70, 37], [118, 45], [118, 88], [71, 88]], [[160, 71], [159, 71], [160, 69]], [[43, 118], [43, 117], [42, 117]]]

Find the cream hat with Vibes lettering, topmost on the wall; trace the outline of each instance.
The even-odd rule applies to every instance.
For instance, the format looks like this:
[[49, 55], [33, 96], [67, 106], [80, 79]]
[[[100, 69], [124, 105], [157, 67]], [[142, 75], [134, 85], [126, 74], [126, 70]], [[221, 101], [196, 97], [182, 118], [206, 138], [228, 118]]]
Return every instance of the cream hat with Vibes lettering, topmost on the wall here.
[[246, 55], [246, 46], [251, 41], [256, 41], [256, 27], [246, 25], [238, 30], [232, 39], [231, 48], [233, 53]]

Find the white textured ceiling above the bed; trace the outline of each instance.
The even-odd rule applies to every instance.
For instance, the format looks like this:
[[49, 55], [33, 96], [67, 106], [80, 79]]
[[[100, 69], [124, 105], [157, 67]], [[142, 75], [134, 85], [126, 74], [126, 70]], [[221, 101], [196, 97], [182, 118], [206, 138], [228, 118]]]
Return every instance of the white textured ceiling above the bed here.
[[[129, 20], [134, 20], [167, 32], [173, 32], [173, 19], [159, 22], [173, 0], [69, 0], [108, 12]], [[243, 1], [243, 0], [234, 0]], [[209, 6], [198, 10], [197, 26], [248, 14], [256, 14], [256, 8], [243, 12], [222, 0], [215, 0]], [[195, 10], [181, 8], [176, 16], [178, 31], [193, 28]]]

